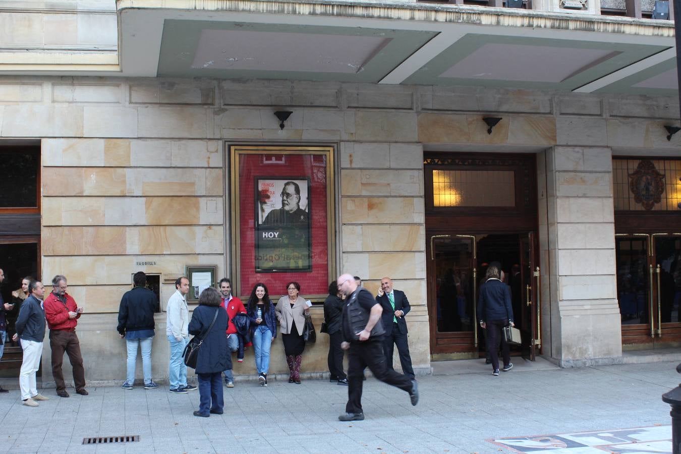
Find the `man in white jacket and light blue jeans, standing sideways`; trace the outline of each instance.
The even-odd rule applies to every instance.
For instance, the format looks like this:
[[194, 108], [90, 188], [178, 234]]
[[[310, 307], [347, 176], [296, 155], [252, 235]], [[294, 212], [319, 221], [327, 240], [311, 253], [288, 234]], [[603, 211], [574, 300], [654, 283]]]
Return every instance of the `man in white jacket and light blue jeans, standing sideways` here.
[[170, 342], [170, 392], [186, 394], [195, 391], [187, 385], [187, 366], [182, 357], [189, 342], [189, 308], [186, 295], [189, 293], [189, 279], [182, 276], [175, 281], [175, 293], [168, 299], [165, 334]]

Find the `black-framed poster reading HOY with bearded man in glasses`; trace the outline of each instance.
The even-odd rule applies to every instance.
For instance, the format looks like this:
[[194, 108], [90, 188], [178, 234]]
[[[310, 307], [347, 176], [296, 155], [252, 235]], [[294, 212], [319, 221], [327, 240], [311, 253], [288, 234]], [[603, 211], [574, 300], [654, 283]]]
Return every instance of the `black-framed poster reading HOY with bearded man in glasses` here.
[[310, 180], [255, 178], [256, 272], [311, 271]]

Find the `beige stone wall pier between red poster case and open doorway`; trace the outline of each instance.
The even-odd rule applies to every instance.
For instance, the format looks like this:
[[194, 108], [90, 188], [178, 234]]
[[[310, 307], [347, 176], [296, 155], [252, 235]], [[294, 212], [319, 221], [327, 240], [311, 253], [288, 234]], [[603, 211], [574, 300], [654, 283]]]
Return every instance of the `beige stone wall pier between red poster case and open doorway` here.
[[340, 272], [360, 276], [374, 295], [389, 276], [407, 294], [412, 365], [430, 373], [422, 146], [344, 142], [340, 167]]

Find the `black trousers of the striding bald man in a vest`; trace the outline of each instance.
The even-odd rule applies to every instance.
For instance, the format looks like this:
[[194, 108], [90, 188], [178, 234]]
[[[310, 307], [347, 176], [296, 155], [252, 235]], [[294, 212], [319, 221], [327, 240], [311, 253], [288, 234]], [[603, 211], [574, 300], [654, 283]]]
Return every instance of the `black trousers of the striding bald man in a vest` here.
[[387, 368], [382, 339], [351, 342], [348, 351], [347, 380], [350, 386], [347, 389], [346, 412], [362, 412], [362, 376], [366, 367], [383, 383], [411, 391], [411, 378]]

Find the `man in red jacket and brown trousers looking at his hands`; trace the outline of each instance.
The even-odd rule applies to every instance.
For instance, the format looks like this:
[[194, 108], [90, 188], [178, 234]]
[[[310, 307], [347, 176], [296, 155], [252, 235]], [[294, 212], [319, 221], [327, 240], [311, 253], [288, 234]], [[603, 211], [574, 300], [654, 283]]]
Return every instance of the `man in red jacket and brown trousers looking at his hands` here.
[[52, 348], [52, 376], [57, 384], [57, 395], [62, 398], [69, 397], [64, 383], [64, 374], [61, 372], [61, 363], [64, 352], [69, 355], [71, 367], [74, 371], [74, 385], [76, 393], [88, 395], [85, 391], [85, 369], [83, 358], [80, 355], [80, 342], [76, 336], [76, 325], [83, 312], [83, 308], [76, 305], [76, 300], [66, 293], [66, 278], [57, 274], [52, 279], [52, 292], [45, 298], [45, 319], [50, 328], [50, 348]]

